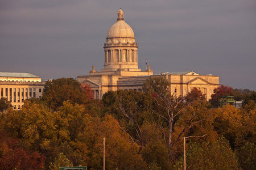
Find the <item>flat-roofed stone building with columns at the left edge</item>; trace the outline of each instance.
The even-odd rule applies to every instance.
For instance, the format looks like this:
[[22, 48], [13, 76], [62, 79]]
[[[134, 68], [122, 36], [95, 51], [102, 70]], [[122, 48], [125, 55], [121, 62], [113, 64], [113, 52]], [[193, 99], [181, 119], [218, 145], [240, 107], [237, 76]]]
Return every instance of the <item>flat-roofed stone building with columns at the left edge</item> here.
[[0, 72], [0, 97], [11, 101], [14, 109], [20, 109], [24, 100], [41, 98], [45, 83], [30, 73]]

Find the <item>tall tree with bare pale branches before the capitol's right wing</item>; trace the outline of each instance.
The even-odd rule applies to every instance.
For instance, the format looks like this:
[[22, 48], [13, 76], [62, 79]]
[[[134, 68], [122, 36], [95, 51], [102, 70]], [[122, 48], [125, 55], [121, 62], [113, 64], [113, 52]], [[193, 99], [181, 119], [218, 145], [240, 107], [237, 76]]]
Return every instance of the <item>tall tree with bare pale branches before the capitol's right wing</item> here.
[[[196, 124], [203, 122], [209, 116], [201, 118], [196, 112], [184, 113], [183, 110], [189, 107], [192, 103], [183, 103], [184, 97], [177, 97], [176, 94], [170, 94], [167, 90], [168, 80], [162, 77], [149, 78], [144, 83], [143, 91], [149, 91], [154, 97], [154, 104], [156, 108], [151, 111], [163, 118], [167, 122], [168, 129], [168, 147], [169, 147], [169, 161], [171, 161], [174, 154], [174, 146], [180, 141], [183, 134], [189, 129], [193, 128]], [[184, 122], [183, 128], [180, 129], [177, 136], [174, 138], [174, 125], [176, 123], [175, 118], [179, 118], [182, 114], [189, 114], [188, 120]]]

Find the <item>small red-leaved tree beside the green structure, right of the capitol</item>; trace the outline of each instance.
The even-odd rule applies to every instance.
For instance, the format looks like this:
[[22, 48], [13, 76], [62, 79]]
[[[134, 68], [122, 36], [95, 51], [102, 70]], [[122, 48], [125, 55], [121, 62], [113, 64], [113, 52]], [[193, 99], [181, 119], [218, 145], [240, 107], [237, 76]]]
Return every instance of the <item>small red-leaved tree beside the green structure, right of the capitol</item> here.
[[229, 86], [224, 86], [221, 84], [220, 87], [217, 87], [213, 91], [214, 94], [210, 95], [212, 99], [210, 99], [210, 103], [213, 105], [213, 107], [217, 108], [218, 103], [220, 102], [220, 99], [222, 96], [233, 96], [233, 88]]

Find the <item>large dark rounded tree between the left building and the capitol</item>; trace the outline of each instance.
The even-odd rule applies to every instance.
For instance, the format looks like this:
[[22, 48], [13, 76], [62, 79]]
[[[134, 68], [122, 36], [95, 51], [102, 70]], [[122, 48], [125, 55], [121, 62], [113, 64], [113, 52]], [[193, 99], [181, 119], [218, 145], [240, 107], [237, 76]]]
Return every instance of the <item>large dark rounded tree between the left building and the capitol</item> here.
[[47, 101], [49, 107], [56, 111], [63, 105], [63, 101], [71, 104], [84, 104], [88, 101], [88, 94], [82, 90], [81, 84], [73, 78], [60, 78], [46, 82], [42, 99]]

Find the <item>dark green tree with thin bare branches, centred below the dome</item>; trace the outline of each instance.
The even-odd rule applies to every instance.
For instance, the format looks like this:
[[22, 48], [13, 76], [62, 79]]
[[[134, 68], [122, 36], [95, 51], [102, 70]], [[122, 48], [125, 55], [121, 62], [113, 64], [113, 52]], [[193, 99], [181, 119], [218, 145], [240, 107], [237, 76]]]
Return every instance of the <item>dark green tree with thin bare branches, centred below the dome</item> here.
[[125, 124], [127, 133], [133, 140], [139, 141], [143, 148], [145, 141], [142, 125], [148, 118], [152, 97], [138, 91], [118, 90], [106, 93], [102, 100], [105, 104], [110, 104], [110, 110], [113, 111], [115, 118]]

